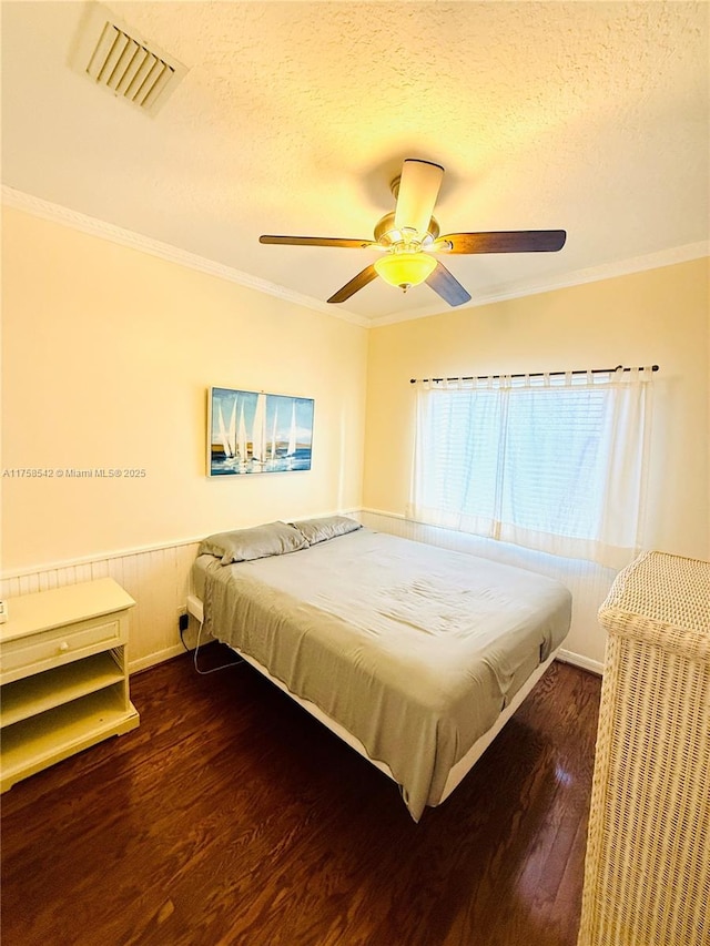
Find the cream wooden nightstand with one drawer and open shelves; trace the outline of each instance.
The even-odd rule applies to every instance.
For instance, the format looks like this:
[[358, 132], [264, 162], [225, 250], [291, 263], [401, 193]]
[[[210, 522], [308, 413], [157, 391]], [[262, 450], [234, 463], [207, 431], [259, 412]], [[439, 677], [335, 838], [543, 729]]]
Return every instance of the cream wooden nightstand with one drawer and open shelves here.
[[135, 601], [112, 578], [11, 598], [0, 624], [0, 790], [138, 726], [125, 645]]

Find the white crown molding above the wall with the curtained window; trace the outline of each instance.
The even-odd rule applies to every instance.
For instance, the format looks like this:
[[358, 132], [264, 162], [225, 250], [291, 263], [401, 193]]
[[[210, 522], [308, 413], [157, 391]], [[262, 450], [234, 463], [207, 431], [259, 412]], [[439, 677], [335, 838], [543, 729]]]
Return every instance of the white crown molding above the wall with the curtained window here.
[[[478, 308], [481, 305], [505, 302], [506, 299], [534, 296], [539, 293], [550, 293], [556, 289], [566, 289], [571, 286], [581, 286], [585, 283], [598, 283], [602, 279], [613, 279], [616, 276], [630, 276], [633, 273], [642, 273], [645, 269], [660, 269], [663, 266], [674, 266], [677, 263], [689, 263], [692, 260], [702, 260], [710, 256], [710, 241], [687, 243], [684, 246], [674, 246], [670, 250], [661, 250], [658, 253], [648, 253], [645, 256], [633, 256], [621, 260], [618, 263], [604, 263], [600, 266], [590, 266], [586, 269], [576, 269], [572, 273], [551, 277], [544, 283], [526, 284], [511, 288], [507, 292], [488, 293], [471, 299], [465, 306], [458, 306], [456, 312], [466, 308]], [[450, 312], [450, 309], [446, 309]], [[396, 322], [412, 322], [415, 318], [428, 318], [433, 315], [442, 315], [440, 307], [427, 306], [408, 313], [396, 313], [373, 318], [368, 325], [376, 328], [381, 325], [393, 325]]]

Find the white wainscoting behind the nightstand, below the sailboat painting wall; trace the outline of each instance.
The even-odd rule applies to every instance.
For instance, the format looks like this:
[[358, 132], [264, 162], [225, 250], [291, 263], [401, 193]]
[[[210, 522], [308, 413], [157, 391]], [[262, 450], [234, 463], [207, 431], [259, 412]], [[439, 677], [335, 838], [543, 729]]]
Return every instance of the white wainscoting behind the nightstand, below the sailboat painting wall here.
[[[130, 611], [129, 670], [134, 673], [183, 652], [178, 616], [185, 610], [196, 541], [116, 552], [3, 577], [3, 600], [97, 578], [113, 578], [135, 600]], [[12, 611], [12, 602], [9, 606]], [[194, 630], [191, 629], [193, 634]]]

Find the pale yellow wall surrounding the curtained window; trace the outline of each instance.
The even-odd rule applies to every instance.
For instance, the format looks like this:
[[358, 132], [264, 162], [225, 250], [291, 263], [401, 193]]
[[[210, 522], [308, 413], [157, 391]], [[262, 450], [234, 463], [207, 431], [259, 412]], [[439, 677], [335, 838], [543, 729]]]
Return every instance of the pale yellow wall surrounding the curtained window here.
[[708, 262], [372, 329], [364, 506], [405, 511], [409, 378], [658, 364], [645, 546], [710, 557]]

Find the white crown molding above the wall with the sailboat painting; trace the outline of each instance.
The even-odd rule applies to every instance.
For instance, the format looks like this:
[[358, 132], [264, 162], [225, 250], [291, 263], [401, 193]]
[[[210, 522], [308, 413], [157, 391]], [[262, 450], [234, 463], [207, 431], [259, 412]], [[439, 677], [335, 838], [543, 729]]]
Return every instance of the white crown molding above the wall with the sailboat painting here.
[[36, 197], [32, 194], [27, 194], [23, 191], [16, 191], [7, 184], [2, 185], [2, 203], [4, 206], [24, 211], [32, 216], [41, 217], [53, 223], [60, 223], [64, 226], [70, 226], [72, 230], [78, 230], [81, 233], [88, 233], [90, 236], [98, 236], [101, 240], [108, 240], [111, 243], [118, 243], [120, 246], [128, 246], [130, 250], [138, 250], [141, 253], [148, 253], [151, 256], [158, 256], [159, 260], [165, 260], [169, 263], [176, 263], [179, 266], [185, 266], [189, 269], [196, 269], [199, 273], [206, 273], [209, 276], [216, 276], [219, 279], [226, 279], [230, 283], [236, 283], [248, 289], [255, 289], [258, 293], [265, 293], [270, 296], [283, 299], [284, 302], [294, 303], [304, 308], [320, 312], [324, 315], [329, 315], [333, 318], [339, 318], [344, 322], [349, 322], [363, 328], [369, 326], [371, 321], [357, 315], [347, 309], [333, 308], [320, 299], [312, 296], [306, 296], [301, 293], [295, 293], [285, 286], [280, 286], [276, 283], [270, 283], [267, 279], [260, 279], [257, 276], [251, 276], [248, 273], [243, 273], [241, 269], [235, 269], [232, 266], [226, 266], [223, 263], [215, 263], [213, 260], [207, 260], [204, 256], [197, 256], [195, 253], [190, 253], [186, 250], [180, 250], [178, 246], [172, 246], [170, 243], [162, 243], [159, 240], [153, 240], [150, 236], [143, 236], [141, 233], [135, 233], [131, 230], [124, 230], [121, 226], [115, 226], [106, 221], [98, 217], [87, 216], [87, 214], [72, 211], [69, 207], [53, 204], [42, 197]]

